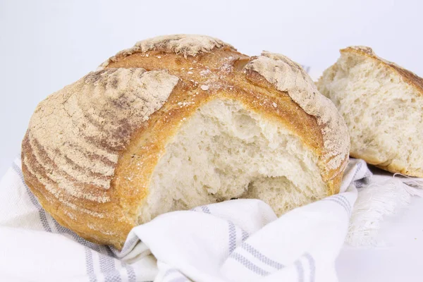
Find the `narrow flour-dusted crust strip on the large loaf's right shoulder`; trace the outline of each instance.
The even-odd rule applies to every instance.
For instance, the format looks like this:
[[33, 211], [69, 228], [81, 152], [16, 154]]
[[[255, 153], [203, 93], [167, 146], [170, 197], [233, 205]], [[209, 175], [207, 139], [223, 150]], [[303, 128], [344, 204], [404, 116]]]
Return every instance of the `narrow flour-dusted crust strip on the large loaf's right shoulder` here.
[[307, 114], [317, 118], [326, 151], [325, 163], [331, 169], [341, 166], [350, 151], [348, 128], [336, 106], [319, 93], [302, 67], [286, 56], [264, 51], [262, 56], [250, 61], [245, 69], [256, 71], [279, 91], [287, 92]]

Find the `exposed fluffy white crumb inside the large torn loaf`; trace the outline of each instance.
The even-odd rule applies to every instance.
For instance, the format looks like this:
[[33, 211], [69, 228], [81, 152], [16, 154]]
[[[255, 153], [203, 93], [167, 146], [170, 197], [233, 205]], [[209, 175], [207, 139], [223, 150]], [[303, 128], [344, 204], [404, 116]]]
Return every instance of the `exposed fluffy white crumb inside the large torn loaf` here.
[[281, 215], [327, 195], [317, 156], [281, 123], [214, 99], [183, 123], [159, 160], [140, 222], [232, 198], [258, 198]]

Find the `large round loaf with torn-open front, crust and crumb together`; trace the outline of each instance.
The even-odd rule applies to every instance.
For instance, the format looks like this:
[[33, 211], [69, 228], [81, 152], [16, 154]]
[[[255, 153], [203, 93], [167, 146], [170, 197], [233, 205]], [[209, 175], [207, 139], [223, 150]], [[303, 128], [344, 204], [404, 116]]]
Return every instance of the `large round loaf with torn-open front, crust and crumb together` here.
[[22, 166], [61, 225], [121, 248], [165, 212], [243, 197], [280, 215], [337, 193], [349, 147], [343, 118], [297, 63], [171, 35], [41, 102]]

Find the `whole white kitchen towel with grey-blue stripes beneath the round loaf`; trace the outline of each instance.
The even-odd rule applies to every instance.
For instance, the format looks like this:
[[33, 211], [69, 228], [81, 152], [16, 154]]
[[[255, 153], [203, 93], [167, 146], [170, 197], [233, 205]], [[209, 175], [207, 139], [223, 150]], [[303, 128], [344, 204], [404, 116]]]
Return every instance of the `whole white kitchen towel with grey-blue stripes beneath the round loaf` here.
[[259, 200], [164, 214], [134, 228], [118, 252], [60, 226], [23, 183], [16, 160], [0, 183], [0, 279], [335, 281], [354, 186], [372, 185], [371, 176], [364, 161], [352, 159], [341, 194], [279, 219]]

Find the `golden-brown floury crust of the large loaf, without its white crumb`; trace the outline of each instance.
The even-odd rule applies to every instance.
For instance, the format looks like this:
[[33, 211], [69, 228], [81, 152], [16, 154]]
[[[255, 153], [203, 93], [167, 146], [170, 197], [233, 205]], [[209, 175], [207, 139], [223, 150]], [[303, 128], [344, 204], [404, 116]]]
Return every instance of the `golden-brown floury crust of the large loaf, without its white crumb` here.
[[339, 191], [345, 123], [296, 63], [269, 52], [250, 58], [194, 35], [147, 39], [128, 50], [52, 94], [31, 118], [25, 182], [63, 226], [121, 248], [139, 224], [166, 144], [212, 99], [237, 100], [282, 123], [319, 158], [328, 194]]

